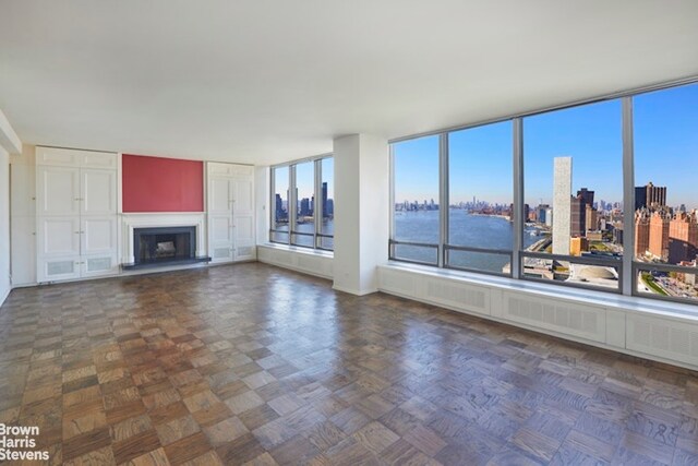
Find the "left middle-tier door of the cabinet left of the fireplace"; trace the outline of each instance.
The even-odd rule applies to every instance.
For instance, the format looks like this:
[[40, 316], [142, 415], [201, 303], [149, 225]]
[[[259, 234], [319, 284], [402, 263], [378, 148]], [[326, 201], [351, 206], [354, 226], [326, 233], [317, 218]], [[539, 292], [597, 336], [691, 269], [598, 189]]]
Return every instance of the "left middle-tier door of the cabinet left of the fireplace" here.
[[80, 168], [37, 167], [38, 215], [80, 214]]

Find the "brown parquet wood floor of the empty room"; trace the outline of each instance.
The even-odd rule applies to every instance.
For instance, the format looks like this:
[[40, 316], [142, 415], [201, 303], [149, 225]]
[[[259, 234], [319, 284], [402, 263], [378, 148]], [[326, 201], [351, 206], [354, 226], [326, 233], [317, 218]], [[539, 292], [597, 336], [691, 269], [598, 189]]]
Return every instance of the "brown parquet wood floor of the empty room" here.
[[695, 465], [698, 374], [251, 263], [13, 290], [0, 422], [52, 464]]

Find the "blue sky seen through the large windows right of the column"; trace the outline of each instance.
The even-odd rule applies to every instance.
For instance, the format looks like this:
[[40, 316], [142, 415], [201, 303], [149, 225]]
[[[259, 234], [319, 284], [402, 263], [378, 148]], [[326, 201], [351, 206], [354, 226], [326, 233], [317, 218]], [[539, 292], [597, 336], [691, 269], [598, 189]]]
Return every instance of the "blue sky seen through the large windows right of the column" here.
[[[634, 98], [635, 184], [667, 187], [667, 203], [698, 207], [698, 84]], [[450, 202], [512, 202], [512, 123], [449, 135]], [[553, 159], [573, 157], [573, 190], [622, 201], [621, 100], [524, 120], [525, 200], [552, 203]], [[395, 144], [396, 202], [438, 199], [438, 136]]]

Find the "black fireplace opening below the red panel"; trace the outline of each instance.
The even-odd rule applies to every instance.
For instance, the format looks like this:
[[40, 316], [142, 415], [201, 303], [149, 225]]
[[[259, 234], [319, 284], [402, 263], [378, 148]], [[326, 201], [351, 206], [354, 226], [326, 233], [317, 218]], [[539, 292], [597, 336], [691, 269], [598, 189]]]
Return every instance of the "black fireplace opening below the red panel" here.
[[134, 265], [196, 260], [196, 227], [133, 229]]

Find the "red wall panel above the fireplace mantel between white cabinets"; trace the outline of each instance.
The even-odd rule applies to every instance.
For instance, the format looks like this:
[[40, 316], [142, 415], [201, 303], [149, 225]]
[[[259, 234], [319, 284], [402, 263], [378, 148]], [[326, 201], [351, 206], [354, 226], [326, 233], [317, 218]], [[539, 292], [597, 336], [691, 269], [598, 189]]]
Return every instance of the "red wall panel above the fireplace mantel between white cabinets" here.
[[127, 155], [123, 212], [204, 212], [204, 163]]

